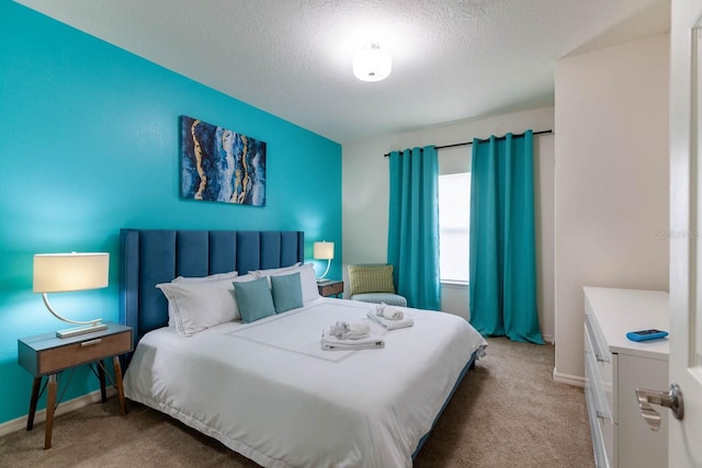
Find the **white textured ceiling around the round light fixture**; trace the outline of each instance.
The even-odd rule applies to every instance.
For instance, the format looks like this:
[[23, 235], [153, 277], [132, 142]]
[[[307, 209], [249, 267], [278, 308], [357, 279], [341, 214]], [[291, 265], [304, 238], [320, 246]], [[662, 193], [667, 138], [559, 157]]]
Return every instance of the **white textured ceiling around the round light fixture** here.
[[[669, 30], [669, 0], [16, 0], [341, 144], [553, 105], [554, 64]], [[367, 83], [353, 50], [393, 72]]]

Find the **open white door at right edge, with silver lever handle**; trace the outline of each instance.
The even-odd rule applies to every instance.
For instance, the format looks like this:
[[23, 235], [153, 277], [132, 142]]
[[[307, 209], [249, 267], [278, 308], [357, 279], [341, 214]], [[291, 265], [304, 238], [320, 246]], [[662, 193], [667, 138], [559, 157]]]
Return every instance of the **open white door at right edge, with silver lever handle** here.
[[[670, 30], [670, 467], [702, 467], [702, 0], [672, 0]], [[661, 411], [669, 411], [665, 408]]]

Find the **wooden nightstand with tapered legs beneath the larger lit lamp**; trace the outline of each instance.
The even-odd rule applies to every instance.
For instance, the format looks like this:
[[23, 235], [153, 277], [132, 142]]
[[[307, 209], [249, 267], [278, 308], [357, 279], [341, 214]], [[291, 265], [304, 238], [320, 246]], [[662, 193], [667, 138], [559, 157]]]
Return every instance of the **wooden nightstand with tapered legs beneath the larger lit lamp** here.
[[97, 364], [97, 374], [100, 379], [102, 402], [107, 399], [105, 391], [105, 367], [103, 359], [112, 357], [114, 366], [115, 387], [120, 400], [120, 412], [126, 414], [124, 401], [124, 388], [122, 386], [122, 366], [118, 356], [132, 351], [132, 329], [117, 323], [106, 323], [107, 329], [78, 336], [60, 339], [55, 333], [38, 334], [18, 340], [18, 362], [34, 376], [32, 385], [32, 399], [30, 400], [30, 414], [27, 415], [26, 430], [34, 426], [34, 413], [36, 403], [44, 392], [42, 379], [48, 376], [46, 388], [46, 432], [44, 434], [44, 448], [52, 447], [52, 430], [54, 426], [54, 412], [58, 402], [56, 391], [58, 375], [66, 369], [82, 365]]

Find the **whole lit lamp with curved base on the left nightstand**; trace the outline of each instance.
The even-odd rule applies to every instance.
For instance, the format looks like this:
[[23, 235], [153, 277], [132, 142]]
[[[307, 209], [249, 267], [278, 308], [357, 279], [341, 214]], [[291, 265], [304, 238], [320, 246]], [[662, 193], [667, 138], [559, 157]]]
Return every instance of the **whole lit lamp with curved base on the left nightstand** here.
[[76, 321], [61, 317], [48, 301], [47, 293], [99, 289], [107, 287], [110, 275], [109, 253], [42, 253], [34, 255], [34, 293], [42, 294], [44, 305], [54, 317], [75, 327], [56, 332], [58, 338], [105, 330], [102, 319]]

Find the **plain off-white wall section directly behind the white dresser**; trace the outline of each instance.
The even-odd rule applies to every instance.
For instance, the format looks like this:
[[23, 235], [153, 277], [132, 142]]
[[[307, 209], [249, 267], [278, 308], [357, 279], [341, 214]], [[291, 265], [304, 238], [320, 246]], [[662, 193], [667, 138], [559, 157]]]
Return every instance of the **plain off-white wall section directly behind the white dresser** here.
[[668, 289], [668, 41], [556, 62], [556, 368], [582, 381], [582, 286]]

